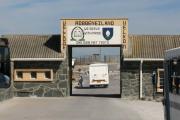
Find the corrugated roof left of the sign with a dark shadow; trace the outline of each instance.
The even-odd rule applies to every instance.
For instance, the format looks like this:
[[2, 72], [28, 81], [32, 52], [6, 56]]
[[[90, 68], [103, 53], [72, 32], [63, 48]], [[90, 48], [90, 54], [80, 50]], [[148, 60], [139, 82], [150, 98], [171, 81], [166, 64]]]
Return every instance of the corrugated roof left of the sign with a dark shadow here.
[[12, 58], [62, 58], [60, 35], [4, 35]]

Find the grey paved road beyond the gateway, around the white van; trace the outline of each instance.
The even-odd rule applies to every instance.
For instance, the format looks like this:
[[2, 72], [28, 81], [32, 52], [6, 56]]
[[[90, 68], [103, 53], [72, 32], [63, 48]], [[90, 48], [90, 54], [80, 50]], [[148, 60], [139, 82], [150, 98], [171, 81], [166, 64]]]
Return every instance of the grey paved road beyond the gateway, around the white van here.
[[75, 94], [75, 95], [118, 95], [120, 94], [120, 72], [116, 71], [116, 72], [111, 72], [109, 74], [108, 88], [98, 88], [98, 87], [90, 88], [89, 76], [83, 75], [83, 87], [82, 88], [72, 87], [72, 94]]

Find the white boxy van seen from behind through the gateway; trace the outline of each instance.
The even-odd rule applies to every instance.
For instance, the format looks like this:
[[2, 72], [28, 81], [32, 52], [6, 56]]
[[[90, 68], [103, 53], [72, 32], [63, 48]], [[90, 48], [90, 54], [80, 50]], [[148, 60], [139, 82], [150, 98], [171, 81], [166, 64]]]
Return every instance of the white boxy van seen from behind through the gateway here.
[[96, 63], [89, 65], [89, 85], [108, 87], [109, 85], [109, 72], [108, 64]]

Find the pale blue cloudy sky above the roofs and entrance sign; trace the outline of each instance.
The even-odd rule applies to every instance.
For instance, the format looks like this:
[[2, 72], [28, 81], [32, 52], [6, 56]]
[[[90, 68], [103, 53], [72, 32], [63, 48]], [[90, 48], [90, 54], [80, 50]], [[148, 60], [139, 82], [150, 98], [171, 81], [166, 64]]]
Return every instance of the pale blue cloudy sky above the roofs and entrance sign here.
[[130, 34], [179, 34], [179, 0], [0, 0], [0, 35], [59, 34], [61, 18], [129, 19]]

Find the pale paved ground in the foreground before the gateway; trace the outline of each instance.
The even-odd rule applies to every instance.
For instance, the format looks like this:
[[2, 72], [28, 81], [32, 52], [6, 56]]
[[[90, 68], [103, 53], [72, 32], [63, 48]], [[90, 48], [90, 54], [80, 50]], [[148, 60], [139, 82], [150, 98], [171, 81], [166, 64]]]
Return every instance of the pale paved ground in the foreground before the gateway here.
[[0, 120], [163, 120], [163, 108], [119, 98], [13, 98], [0, 103]]

